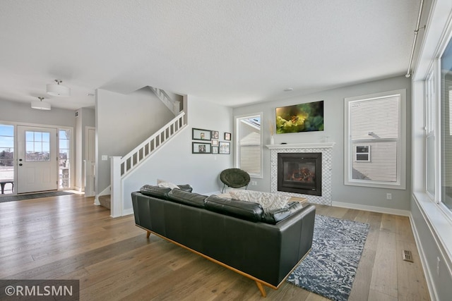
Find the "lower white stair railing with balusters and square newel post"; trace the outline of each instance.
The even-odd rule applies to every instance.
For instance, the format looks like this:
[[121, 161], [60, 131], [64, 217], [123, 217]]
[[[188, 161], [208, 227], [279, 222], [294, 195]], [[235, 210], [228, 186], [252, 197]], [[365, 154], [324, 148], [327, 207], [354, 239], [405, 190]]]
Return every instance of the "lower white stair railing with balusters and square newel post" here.
[[124, 157], [110, 157], [111, 176], [111, 216], [122, 216], [122, 192], [121, 181], [131, 173], [143, 160], [148, 159], [157, 149], [162, 147], [173, 135], [186, 126], [185, 112], [182, 111], [164, 125], [155, 134], [146, 139], [141, 145], [135, 147]]

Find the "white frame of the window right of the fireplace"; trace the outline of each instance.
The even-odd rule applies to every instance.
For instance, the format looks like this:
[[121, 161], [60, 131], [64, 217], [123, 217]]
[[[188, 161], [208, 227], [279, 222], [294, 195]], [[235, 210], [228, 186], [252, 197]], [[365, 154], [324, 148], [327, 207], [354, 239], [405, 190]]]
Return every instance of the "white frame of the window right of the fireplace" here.
[[[397, 147], [397, 180], [396, 182], [383, 182], [375, 180], [352, 179], [353, 149], [350, 139], [350, 104], [359, 100], [378, 99], [400, 94], [398, 147]], [[363, 142], [363, 144], [365, 144]], [[402, 154], [406, 154], [406, 90], [393, 90], [374, 94], [361, 95], [357, 97], [347, 97], [344, 99], [344, 185], [362, 186], [371, 188], [406, 189], [406, 160]]]

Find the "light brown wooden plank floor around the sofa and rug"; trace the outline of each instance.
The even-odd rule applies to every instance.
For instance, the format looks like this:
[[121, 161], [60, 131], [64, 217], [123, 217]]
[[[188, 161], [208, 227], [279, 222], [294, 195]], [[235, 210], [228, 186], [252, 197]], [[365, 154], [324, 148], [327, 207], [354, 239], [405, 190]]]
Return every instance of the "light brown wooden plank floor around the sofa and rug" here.
[[[429, 300], [407, 217], [316, 207], [371, 225], [349, 300]], [[83, 195], [0, 203], [0, 279], [42, 278], [79, 279], [81, 300], [263, 300], [254, 281], [146, 239], [133, 216], [112, 219]], [[266, 290], [266, 300], [326, 300], [289, 283]]]

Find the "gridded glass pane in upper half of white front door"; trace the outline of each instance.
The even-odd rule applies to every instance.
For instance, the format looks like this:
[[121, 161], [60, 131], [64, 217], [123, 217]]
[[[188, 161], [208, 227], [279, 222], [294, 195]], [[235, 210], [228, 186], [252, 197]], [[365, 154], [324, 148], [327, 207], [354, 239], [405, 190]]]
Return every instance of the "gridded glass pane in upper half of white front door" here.
[[50, 161], [50, 134], [25, 131], [25, 161]]

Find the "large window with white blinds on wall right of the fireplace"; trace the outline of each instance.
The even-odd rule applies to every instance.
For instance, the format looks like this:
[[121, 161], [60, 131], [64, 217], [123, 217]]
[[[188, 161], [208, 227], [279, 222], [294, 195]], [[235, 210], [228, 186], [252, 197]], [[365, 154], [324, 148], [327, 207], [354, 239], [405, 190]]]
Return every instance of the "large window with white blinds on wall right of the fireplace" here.
[[401, 188], [405, 90], [345, 99], [345, 184]]

